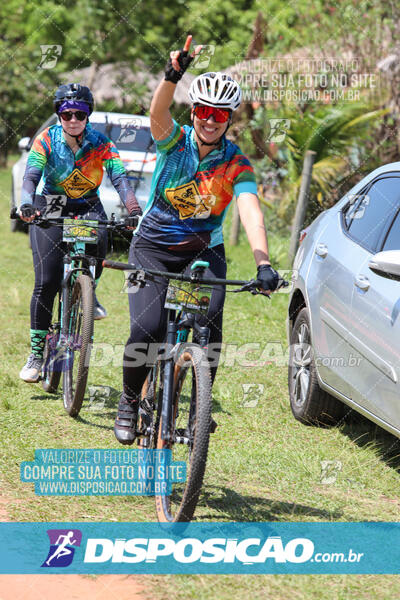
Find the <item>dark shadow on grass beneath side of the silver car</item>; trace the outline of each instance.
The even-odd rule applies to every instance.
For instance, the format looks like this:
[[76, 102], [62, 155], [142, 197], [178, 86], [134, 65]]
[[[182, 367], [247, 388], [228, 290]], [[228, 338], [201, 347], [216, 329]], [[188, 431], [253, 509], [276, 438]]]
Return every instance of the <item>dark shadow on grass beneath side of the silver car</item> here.
[[360, 413], [352, 411], [340, 428], [360, 448], [372, 448], [380, 460], [400, 473], [400, 439]]

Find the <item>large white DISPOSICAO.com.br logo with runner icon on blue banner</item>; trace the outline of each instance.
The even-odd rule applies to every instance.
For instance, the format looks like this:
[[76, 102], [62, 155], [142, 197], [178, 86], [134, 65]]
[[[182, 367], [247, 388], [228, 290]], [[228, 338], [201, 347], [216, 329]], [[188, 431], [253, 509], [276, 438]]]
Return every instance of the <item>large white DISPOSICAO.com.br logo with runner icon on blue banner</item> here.
[[352, 549], [352, 539], [332, 544], [300, 531], [291, 536], [263, 533], [264, 524], [247, 535], [242, 524], [176, 524], [170, 535], [157, 524], [102, 524], [101, 533], [99, 525], [47, 530], [50, 549], [41, 567], [68, 567], [74, 561], [68, 572], [330, 573], [358, 572], [365, 563], [365, 555]]

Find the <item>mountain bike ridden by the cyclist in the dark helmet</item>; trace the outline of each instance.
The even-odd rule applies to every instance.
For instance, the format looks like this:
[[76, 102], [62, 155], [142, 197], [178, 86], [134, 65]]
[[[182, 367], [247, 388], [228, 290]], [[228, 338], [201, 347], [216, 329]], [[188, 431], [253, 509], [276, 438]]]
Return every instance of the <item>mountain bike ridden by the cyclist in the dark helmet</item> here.
[[[10, 216], [19, 218], [16, 211]], [[63, 229], [64, 274], [46, 336], [41, 379], [43, 389], [54, 394], [62, 376], [64, 408], [71, 417], [76, 417], [85, 396], [94, 329], [98, 259], [85, 253], [86, 245], [97, 243], [100, 226], [113, 231], [126, 230], [127, 220], [36, 216], [29, 225], [55, 225]]]

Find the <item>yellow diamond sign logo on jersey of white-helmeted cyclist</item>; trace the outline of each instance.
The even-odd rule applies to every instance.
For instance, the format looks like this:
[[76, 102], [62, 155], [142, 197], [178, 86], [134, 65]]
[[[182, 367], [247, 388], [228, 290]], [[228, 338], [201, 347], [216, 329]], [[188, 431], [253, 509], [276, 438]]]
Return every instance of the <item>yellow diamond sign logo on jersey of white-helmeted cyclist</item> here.
[[165, 190], [165, 195], [179, 212], [180, 219], [207, 219], [216, 200], [212, 194], [200, 194], [195, 181], [177, 188], [168, 188]]

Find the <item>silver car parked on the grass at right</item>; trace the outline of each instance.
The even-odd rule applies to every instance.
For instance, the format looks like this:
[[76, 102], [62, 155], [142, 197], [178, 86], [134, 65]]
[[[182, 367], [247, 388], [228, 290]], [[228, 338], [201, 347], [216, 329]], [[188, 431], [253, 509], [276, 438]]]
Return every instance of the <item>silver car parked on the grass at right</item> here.
[[400, 162], [360, 181], [302, 232], [288, 316], [296, 419], [346, 405], [400, 437]]

